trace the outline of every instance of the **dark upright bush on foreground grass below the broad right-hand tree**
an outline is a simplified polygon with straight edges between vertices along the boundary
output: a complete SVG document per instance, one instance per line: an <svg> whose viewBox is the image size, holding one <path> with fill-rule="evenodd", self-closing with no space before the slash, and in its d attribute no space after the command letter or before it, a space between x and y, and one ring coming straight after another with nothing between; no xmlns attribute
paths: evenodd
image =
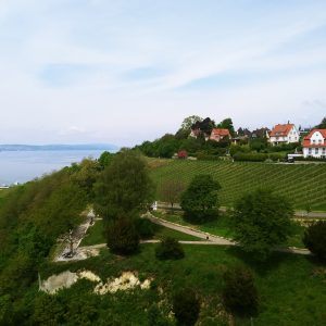
<svg viewBox="0 0 326 326"><path fill-rule="evenodd" d="M258 311L259 297L253 276L242 267L230 268L224 274L222 292L226 310L239 315L253 315Z"/></svg>

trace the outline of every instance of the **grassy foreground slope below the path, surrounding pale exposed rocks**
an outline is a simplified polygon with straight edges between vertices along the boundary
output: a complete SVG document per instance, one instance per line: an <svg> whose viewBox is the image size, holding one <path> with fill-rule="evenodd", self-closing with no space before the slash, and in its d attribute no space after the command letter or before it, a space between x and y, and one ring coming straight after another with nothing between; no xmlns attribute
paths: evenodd
<svg viewBox="0 0 326 326"><path fill-rule="evenodd" d="M224 272L228 267L244 266L254 274L260 294L259 315L252 321L235 317L233 325L325 325L326 267L312 258L274 253L267 263L256 264L239 248L183 244L185 259L159 261L154 255L155 246L141 244L140 252L128 258L113 255L103 249L100 256L75 263L50 263L40 273L43 279L67 269L92 271L103 280L120 276L124 271L137 271L141 279L153 277L150 290L117 292L99 299L116 325L148 325L147 311L151 305L162 310L167 306L167 314L172 293L191 287L202 301L199 325L213 326L229 325L221 298ZM76 285L61 294L75 300L92 292L95 285L88 284Z"/></svg>

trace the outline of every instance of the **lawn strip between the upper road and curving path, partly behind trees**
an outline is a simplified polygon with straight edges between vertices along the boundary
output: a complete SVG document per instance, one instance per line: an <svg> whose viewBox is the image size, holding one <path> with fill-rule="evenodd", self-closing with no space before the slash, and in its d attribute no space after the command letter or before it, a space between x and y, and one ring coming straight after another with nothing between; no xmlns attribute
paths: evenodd
<svg viewBox="0 0 326 326"><path fill-rule="evenodd" d="M204 233L209 233L211 235L229 238L233 239L235 234L231 227L230 216L228 213L220 213L220 216L214 220L210 221L203 224L191 224L183 218L183 213L179 212L178 214L171 214L168 212L154 212L155 216L163 218L168 222L173 222L179 225L189 226L195 229L202 230ZM293 234L289 237L287 243L285 246L287 247L297 247L297 248L304 248L304 244L302 242L302 237L305 230L305 227L300 225L299 222L292 223L293 227Z"/></svg>

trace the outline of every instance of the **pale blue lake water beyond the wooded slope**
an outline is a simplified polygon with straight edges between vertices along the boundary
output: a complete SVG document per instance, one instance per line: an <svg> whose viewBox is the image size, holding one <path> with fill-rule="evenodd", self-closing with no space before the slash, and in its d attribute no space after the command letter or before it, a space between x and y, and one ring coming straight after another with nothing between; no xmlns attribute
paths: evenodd
<svg viewBox="0 0 326 326"><path fill-rule="evenodd" d="M46 173L58 171L84 158L98 159L103 150L2 151L0 185L26 183Z"/></svg>

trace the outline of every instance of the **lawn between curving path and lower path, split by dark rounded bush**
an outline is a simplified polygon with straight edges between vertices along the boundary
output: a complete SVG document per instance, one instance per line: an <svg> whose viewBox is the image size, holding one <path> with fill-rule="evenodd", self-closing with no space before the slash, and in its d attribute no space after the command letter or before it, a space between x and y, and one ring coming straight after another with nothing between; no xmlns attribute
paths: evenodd
<svg viewBox="0 0 326 326"><path fill-rule="evenodd" d="M179 233L177 230L163 227L161 225L152 224L152 227L154 230L153 239L161 240L166 237L172 237L172 238L175 238L180 241L200 241L201 240L197 237L186 235L186 234ZM86 236L84 237L84 239L80 242L80 246L83 247L83 246L93 246L93 244L105 243L106 240L105 240L105 237L103 234L103 229L104 229L103 221L102 220L96 221L96 223L88 228Z"/></svg>

